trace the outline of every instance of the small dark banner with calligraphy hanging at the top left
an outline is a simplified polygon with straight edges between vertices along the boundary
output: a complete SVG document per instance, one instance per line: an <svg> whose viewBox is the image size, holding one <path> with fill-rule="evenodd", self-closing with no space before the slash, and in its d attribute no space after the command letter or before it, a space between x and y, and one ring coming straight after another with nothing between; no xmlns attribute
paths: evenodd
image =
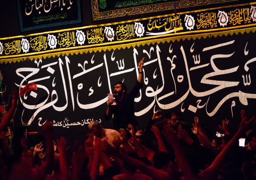
<svg viewBox="0 0 256 180"><path fill-rule="evenodd" d="M80 0L18 0L21 31L81 23Z"/></svg>

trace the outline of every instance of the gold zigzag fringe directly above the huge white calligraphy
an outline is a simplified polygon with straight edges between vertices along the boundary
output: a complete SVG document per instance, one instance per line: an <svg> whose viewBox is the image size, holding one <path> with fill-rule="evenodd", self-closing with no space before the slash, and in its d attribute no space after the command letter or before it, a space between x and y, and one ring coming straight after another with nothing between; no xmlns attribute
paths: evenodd
<svg viewBox="0 0 256 180"><path fill-rule="evenodd" d="M115 46L102 46L102 47L91 47L91 48L86 48L86 49L77 49L77 50L70 50L70 51L62 51L62 52L56 52L56 53L44 53L44 54L41 54L41 55L37 55L37 56L26 56L26 57L17 57L17 58L10 58L10 59L3 59L3 60L0 60L0 63L3 64L3 63L12 63L12 62L20 62L20 61L26 61L26 60L37 60L37 59L42 59L42 58L50 58L50 57L59 57L60 55L61 56L69 56L69 55L78 55L79 53L80 54L83 54L83 53L96 53L97 51L101 52L101 51L111 51L111 50L120 50L121 48L122 49L125 49L125 48L131 48L131 47L139 47L139 46L145 46L145 45L150 45L150 44L159 44L159 43L169 43L170 41L174 42L174 41L180 41L180 40L190 40L190 39L201 39L201 38L204 38L206 39L207 37L209 38L212 38L212 37L222 37L223 35L224 36L227 36L227 35L233 35L233 34L244 34L244 33L254 33L256 31L256 27L252 27L252 28L245 28L245 29L239 29L239 30L230 30L230 31L223 31L223 32L215 32L215 33L209 33L207 31L207 33L203 33L203 34L197 34L197 35L187 35L187 36L175 36L175 37L167 37L167 38L162 38L160 39L160 37L163 37L163 36L159 36L159 37L155 37L155 38L159 38L159 39L153 39L153 40L146 40L146 41L139 41L139 42L134 42L134 43L127 43L127 44L120 44L120 45L115 45ZM203 31L202 31L203 32Z"/></svg>

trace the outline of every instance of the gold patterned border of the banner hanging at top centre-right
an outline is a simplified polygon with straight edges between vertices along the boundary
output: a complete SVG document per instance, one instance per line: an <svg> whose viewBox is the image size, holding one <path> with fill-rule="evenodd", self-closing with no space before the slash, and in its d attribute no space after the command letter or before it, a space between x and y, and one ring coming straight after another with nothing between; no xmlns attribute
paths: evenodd
<svg viewBox="0 0 256 180"><path fill-rule="evenodd" d="M101 13L99 12L98 0L91 0L91 4L92 4L93 21L96 21L96 20L117 18L117 17L123 17L123 16L139 15L144 13L153 13L153 12L160 12L160 11L174 10L174 9L181 9L181 8L191 8L191 7L198 7L203 5L212 5L212 4L227 3L227 2L234 2L234 1L239 1L239 0L215 0L215 1L182 0L182 1L175 1L175 2L169 2L169 3L161 3L161 4L147 5L147 6L141 6L141 7L125 8L120 10L112 10L112 11L106 11Z"/></svg>

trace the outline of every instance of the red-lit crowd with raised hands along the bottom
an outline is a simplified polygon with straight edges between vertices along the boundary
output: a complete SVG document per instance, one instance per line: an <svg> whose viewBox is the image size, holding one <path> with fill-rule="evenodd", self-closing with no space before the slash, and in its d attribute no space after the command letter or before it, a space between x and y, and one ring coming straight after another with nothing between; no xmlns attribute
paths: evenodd
<svg viewBox="0 0 256 180"><path fill-rule="evenodd" d="M12 107L0 123L0 179L256 179L256 134L251 130L256 119L247 117L243 110L236 133L231 134L229 121L223 120L219 128L225 135L213 140L204 132L198 117L193 128L182 128L176 111L170 111L158 123L162 111L156 111L144 131L136 131L128 124L118 132L92 121L87 140L76 145L69 163L67 139L53 141L51 122L42 126L46 150L41 142L28 148L28 139L23 137L22 154L12 153L4 131L17 98L14 91ZM246 148L238 145L243 133L249 142Z"/></svg>

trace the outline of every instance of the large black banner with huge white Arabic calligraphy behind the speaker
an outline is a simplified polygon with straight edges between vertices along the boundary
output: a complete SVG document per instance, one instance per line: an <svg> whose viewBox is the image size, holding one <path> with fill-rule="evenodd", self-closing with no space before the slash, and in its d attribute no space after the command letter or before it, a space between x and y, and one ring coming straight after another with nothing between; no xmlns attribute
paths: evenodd
<svg viewBox="0 0 256 180"><path fill-rule="evenodd" d="M144 87L135 100L138 127L145 127L158 109L174 108L185 122L198 116L212 126L227 118L232 126L240 121L241 109L256 106L256 36L252 31L230 34L149 40L124 49L2 64L2 98L8 104L14 88L37 85L37 90L19 98L17 128L23 125L40 133L40 123L51 121L58 135L67 135L86 132L92 120L111 128L113 121L103 117L107 94L117 81L123 81L129 92L138 77L138 63L145 57Z"/></svg>

